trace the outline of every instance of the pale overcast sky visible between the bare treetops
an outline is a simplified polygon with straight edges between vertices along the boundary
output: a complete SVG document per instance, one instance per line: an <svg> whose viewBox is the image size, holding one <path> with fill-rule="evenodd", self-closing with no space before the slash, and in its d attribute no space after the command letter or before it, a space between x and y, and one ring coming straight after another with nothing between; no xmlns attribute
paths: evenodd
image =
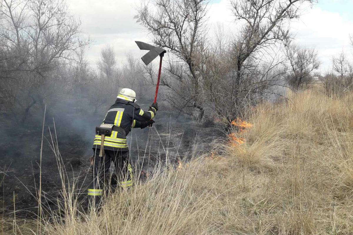
<svg viewBox="0 0 353 235"><path fill-rule="evenodd" d="M95 64L101 48L113 45L119 62L127 53L141 56L134 41L150 42L147 32L133 19L139 0L67 0L71 11L82 20L82 30L93 41L87 56ZM321 71L328 70L333 55L342 50L352 56L349 34L353 34L353 0L319 0L306 7L300 20L291 24L296 41L315 46L322 61ZM211 28L221 23L234 29L229 0L212 0L209 7Z"/></svg>

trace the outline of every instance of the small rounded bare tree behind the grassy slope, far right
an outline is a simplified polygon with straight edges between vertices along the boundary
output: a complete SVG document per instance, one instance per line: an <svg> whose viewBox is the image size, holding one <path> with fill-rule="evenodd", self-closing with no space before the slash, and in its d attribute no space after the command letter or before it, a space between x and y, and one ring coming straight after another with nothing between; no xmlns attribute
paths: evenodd
<svg viewBox="0 0 353 235"><path fill-rule="evenodd" d="M319 68L318 51L315 48L292 44L286 47L285 54L289 62L289 85L298 89L301 84L310 81L313 70Z"/></svg>

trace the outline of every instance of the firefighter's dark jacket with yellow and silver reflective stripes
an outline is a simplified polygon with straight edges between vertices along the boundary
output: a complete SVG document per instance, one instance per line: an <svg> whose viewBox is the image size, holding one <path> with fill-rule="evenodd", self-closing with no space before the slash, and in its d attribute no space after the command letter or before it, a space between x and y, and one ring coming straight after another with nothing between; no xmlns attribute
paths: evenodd
<svg viewBox="0 0 353 235"><path fill-rule="evenodd" d="M123 99L116 99L115 103L110 106L104 124L114 124L125 130L126 135L132 128L145 128L148 124L146 121L151 120L156 115L156 110L152 107L146 112L140 109L137 104ZM93 143L93 149L101 148L101 136L96 135ZM104 150L127 151L126 136L120 132L112 131L110 136L104 138Z"/></svg>

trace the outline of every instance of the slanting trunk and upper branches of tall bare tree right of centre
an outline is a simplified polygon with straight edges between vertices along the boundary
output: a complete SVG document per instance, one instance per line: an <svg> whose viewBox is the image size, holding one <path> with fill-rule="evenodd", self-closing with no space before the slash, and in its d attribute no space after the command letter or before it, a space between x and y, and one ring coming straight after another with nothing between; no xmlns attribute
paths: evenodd
<svg viewBox="0 0 353 235"><path fill-rule="evenodd" d="M234 41L233 56L237 64L234 83L239 87L246 72L244 63L256 52L270 49L277 42L287 42L291 38L288 28L290 20L299 17L299 6L314 0L232 0L232 9L237 20L244 25ZM238 93L234 88L234 94ZM240 99L239 99L240 100Z"/></svg>

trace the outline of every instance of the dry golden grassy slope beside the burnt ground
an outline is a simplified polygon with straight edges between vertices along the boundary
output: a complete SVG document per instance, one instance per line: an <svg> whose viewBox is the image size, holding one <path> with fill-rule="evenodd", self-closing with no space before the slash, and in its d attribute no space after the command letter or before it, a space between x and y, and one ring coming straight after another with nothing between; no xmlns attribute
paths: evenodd
<svg viewBox="0 0 353 235"><path fill-rule="evenodd" d="M215 144L48 234L353 234L353 94L252 111L246 142ZM44 225L43 225L44 226Z"/></svg>

